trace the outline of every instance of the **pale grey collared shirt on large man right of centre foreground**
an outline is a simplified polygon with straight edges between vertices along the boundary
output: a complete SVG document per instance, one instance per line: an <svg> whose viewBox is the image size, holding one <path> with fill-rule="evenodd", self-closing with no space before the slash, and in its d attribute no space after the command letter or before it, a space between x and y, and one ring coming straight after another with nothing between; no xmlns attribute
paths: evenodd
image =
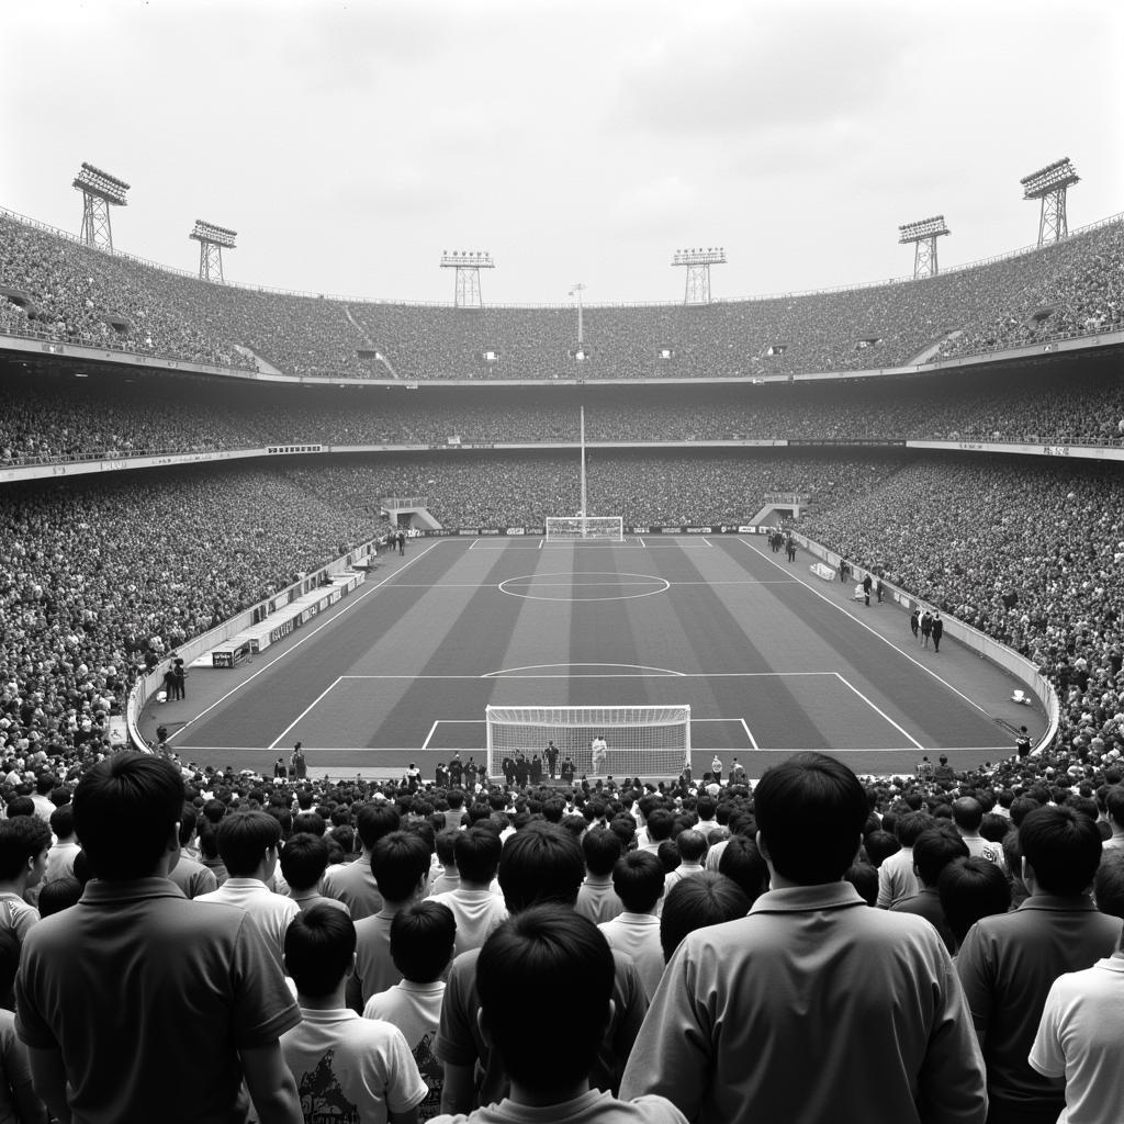
<svg viewBox="0 0 1124 1124"><path fill-rule="evenodd" d="M871 909L846 882L771 890L749 916L686 937L620 1086L644 1093L697 1124L835 1124L841 1105L863 1124L987 1115L979 1045L936 932Z"/></svg>

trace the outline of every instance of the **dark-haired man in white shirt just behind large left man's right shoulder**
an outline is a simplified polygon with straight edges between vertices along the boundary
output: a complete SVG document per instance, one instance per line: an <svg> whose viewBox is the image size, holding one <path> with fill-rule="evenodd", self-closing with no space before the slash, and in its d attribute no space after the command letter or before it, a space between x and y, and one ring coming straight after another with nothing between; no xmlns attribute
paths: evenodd
<svg viewBox="0 0 1124 1124"><path fill-rule="evenodd" d="M250 914L278 966L284 962L284 934L300 906L265 885L278 864L281 825L264 812L235 812L218 825L218 853L230 877L196 901L225 901Z"/></svg>

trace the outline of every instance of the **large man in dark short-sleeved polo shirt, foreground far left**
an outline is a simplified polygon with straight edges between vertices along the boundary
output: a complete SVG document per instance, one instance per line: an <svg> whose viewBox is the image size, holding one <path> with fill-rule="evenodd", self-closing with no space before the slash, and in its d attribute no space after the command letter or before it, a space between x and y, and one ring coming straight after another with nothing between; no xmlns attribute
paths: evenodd
<svg viewBox="0 0 1124 1124"><path fill-rule="evenodd" d="M183 782L158 758L119 753L79 782L96 878L81 909L28 933L17 981L36 1094L61 1120L140 1120L160 1105L164 1121L194 1122L229 1116L245 1080L263 1124L299 1124L278 1039L300 1013L277 961L243 910L201 908L164 877L182 807Z"/></svg>

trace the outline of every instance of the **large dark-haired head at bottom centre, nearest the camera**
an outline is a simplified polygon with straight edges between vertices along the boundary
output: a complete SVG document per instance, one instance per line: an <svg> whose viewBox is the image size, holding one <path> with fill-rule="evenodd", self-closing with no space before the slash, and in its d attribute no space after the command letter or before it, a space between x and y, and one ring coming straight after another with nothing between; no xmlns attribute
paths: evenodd
<svg viewBox="0 0 1124 1124"><path fill-rule="evenodd" d="M589 1075L609 1018L614 978L605 936L564 906L523 909L488 937L477 961L481 1017L513 1081L549 1093ZM528 996L552 995L560 981L579 979L581 1003L555 1004L549 1017L527 1017Z"/></svg>

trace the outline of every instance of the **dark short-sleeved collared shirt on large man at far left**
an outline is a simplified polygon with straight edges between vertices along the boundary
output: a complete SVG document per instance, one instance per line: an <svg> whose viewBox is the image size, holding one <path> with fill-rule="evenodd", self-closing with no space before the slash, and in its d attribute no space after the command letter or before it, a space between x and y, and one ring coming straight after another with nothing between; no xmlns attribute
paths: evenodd
<svg viewBox="0 0 1124 1124"><path fill-rule="evenodd" d="M28 934L16 989L17 1033L61 1052L83 1121L241 1122L238 1051L300 1022L245 910L166 878L89 882Z"/></svg>

